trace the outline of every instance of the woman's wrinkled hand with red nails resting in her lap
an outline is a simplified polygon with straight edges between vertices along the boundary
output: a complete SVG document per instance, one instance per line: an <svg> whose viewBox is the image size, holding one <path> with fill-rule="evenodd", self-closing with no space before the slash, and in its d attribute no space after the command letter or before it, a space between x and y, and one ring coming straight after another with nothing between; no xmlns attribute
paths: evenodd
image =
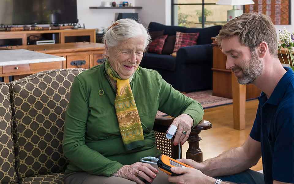
<svg viewBox="0 0 294 184"><path fill-rule="evenodd" d="M147 182L153 182L158 173L157 169L152 167L149 163L136 162L132 165L125 165L120 168L113 176L126 178L138 184L145 184L140 178L145 179Z"/></svg>

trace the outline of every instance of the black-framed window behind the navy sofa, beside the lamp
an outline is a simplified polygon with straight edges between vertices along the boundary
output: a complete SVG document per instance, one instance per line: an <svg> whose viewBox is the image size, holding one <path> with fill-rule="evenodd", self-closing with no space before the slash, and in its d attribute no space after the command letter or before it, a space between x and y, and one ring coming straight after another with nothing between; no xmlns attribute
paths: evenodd
<svg viewBox="0 0 294 184"><path fill-rule="evenodd" d="M216 5L218 0L171 0L171 24L204 28L227 23L231 5Z"/></svg>

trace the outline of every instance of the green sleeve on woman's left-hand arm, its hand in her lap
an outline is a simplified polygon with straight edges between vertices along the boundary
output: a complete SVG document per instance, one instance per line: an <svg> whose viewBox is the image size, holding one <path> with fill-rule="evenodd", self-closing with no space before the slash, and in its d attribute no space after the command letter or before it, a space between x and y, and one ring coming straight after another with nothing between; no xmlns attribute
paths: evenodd
<svg viewBox="0 0 294 184"><path fill-rule="evenodd" d="M110 176L122 164L111 161L85 144L89 93L78 77L75 78L66 110L63 136L64 155L76 167L89 174Z"/></svg>

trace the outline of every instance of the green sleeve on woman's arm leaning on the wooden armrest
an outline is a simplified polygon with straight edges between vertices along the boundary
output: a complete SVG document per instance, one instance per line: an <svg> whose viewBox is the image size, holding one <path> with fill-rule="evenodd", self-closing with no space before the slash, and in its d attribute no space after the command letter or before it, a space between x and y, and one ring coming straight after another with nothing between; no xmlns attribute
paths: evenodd
<svg viewBox="0 0 294 184"><path fill-rule="evenodd" d="M167 113L172 117L188 114L194 121L193 128L198 125L204 114L202 105L196 100L175 90L170 84L162 79L160 74L158 74L158 82L160 86L158 110Z"/></svg>

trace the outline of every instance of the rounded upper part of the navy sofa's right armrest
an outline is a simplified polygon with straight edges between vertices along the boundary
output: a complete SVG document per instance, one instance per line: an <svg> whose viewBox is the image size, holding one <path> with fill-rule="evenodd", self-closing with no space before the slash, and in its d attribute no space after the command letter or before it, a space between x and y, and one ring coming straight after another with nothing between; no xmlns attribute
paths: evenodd
<svg viewBox="0 0 294 184"><path fill-rule="evenodd" d="M210 64L212 63L212 48L211 44L181 47L177 52L177 63Z"/></svg>

